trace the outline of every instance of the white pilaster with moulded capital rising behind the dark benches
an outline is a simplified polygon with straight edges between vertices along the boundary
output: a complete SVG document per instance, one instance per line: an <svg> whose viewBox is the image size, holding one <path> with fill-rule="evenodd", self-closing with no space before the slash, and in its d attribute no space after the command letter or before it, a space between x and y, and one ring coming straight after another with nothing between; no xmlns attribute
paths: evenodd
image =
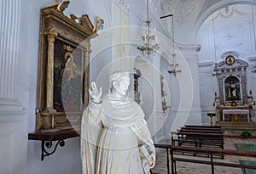
<svg viewBox="0 0 256 174"><path fill-rule="evenodd" d="M201 124L201 106L197 52L199 45L177 45L176 61L182 70L172 76L172 113L174 121L170 131L176 131L184 124Z"/></svg>

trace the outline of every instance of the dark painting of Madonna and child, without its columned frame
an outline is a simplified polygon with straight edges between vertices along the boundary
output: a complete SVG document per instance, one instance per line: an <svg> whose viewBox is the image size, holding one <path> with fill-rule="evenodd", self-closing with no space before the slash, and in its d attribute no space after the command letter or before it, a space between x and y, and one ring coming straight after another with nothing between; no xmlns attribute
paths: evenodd
<svg viewBox="0 0 256 174"><path fill-rule="evenodd" d="M82 50L55 40L54 54L54 109L57 112L83 109L84 63Z"/></svg>

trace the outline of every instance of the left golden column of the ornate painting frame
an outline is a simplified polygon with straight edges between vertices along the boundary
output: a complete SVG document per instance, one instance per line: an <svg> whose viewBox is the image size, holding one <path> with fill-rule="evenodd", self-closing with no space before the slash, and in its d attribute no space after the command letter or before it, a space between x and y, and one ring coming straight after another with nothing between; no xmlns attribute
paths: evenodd
<svg viewBox="0 0 256 174"><path fill-rule="evenodd" d="M55 53L55 31L45 33L48 37L48 53L47 53L47 84L46 84L46 109L49 112L55 112L54 102L54 53Z"/></svg>

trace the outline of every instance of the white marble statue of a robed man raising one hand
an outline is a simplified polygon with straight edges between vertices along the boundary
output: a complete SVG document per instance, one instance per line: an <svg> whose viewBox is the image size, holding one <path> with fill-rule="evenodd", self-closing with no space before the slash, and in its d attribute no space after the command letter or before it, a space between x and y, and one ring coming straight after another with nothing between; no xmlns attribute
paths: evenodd
<svg viewBox="0 0 256 174"><path fill-rule="evenodd" d="M83 174L148 174L155 164L154 143L143 109L127 97L128 72L110 76L110 89L102 97L96 83L81 125Z"/></svg>

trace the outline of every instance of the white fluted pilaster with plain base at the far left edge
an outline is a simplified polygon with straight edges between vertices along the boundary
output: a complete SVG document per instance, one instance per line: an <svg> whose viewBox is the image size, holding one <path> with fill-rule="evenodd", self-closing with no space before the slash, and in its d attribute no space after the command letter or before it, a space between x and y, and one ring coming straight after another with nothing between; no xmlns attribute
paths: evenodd
<svg viewBox="0 0 256 174"><path fill-rule="evenodd" d="M0 1L0 169L1 173L26 173L26 110L16 91L20 0Z"/></svg>

